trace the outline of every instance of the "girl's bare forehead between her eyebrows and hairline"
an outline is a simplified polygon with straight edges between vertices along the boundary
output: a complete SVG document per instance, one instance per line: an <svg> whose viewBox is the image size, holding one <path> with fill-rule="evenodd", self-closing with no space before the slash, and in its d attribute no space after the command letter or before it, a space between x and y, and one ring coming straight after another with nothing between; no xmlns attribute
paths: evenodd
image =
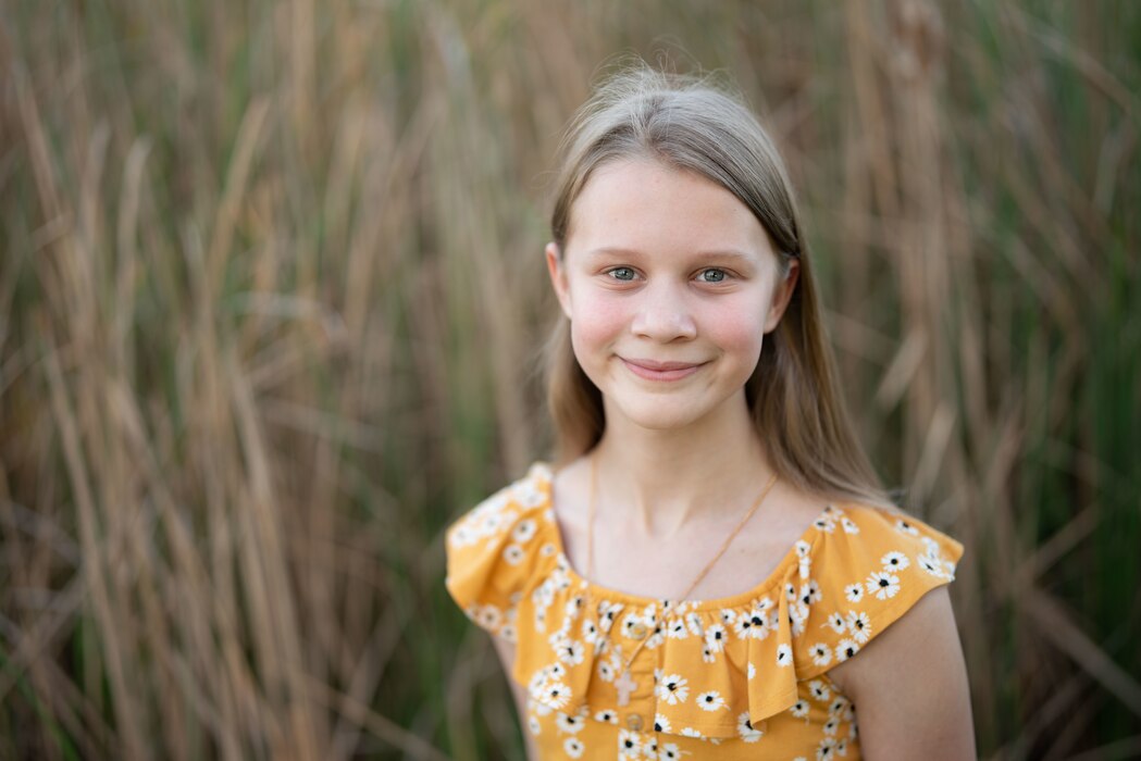
<svg viewBox="0 0 1141 761"><path fill-rule="evenodd" d="M696 172L633 159L598 167L570 210L568 250L739 251L772 254L737 196Z"/></svg>

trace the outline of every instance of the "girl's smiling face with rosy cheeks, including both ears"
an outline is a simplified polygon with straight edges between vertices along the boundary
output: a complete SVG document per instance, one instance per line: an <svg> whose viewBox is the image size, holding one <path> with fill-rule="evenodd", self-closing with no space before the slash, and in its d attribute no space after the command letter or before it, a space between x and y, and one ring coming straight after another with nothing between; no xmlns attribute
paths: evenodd
<svg viewBox="0 0 1141 761"><path fill-rule="evenodd" d="M566 250L547 246L575 357L615 415L683 428L744 411L745 382L798 276L731 193L649 160L597 168Z"/></svg>

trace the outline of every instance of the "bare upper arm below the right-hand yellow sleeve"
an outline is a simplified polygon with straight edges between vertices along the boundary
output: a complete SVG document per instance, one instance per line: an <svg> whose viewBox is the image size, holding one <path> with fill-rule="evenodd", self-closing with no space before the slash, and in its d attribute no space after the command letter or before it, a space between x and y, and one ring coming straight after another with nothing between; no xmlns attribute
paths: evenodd
<svg viewBox="0 0 1141 761"><path fill-rule="evenodd" d="M828 675L856 705L869 759L973 759L966 666L946 586Z"/></svg>

